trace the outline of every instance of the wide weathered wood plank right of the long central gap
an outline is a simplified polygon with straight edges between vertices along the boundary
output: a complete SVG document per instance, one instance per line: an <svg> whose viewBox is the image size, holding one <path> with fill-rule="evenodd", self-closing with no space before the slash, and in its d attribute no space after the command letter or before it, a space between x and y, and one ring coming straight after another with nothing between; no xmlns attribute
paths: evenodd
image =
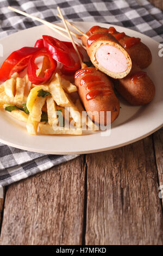
<svg viewBox="0 0 163 256"><path fill-rule="evenodd" d="M86 245L162 245L152 137L86 156Z"/></svg>

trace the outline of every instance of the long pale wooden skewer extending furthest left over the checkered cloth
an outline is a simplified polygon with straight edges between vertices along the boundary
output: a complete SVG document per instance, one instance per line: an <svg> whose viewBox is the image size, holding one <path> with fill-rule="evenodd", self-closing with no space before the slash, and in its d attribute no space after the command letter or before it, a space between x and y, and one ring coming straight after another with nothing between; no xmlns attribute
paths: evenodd
<svg viewBox="0 0 163 256"><path fill-rule="evenodd" d="M62 27L60 27L60 26L58 26L58 25L55 25L55 24L53 24L53 23L50 23L50 22L48 22L48 21L42 20L42 19L40 19L39 17L35 17L35 16L33 16L33 15L30 15L30 14L28 14L28 13L25 13L24 11L17 10L17 9L15 9L15 8L11 7L11 6L8 6L8 9L11 10L11 11L15 11L15 13L18 13L18 14L21 14L21 15L23 15L23 16L29 17L29 18L31 18L31 19L33 19L33 20L39 21L39 22L43 23L44 25L48 26L49 28L53 29L55 32L57 31L55 28L57 28L57 29L59 29L59 30L61 30L61 31L66 32L66 29L65 29L65 28L62 28ZM59 32L58 32L58 33L59 33ZM59 33L59 34L61 34L61 33ZM79 38L79 39L80 39L80 35L78 35L78 34L72 32L72 31L71 31L71 34L74 35L74 36L76 36L76 38ZM65 35L65 37L68 38L68 36L66 36L66 35Z"/></svg>

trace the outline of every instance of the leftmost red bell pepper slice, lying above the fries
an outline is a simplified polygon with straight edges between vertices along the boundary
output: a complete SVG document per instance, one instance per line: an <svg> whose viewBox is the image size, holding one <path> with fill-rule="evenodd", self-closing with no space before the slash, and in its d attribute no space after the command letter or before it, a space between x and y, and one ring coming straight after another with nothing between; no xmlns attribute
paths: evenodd
<svg viewBox="0 0 163 256"><path fill-rule="evenodd" d="M39 50L39 48L35 47L23 47L12 52L0 68L0 81L6 81L15 72L20 72L26 68L29 59Z"/></svg>

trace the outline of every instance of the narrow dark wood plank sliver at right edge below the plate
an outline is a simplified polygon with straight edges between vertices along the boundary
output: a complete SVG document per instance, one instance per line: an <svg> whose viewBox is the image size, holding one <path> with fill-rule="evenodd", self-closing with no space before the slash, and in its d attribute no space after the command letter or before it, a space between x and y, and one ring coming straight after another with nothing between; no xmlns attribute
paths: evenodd
<svg viewBox="0 0 163 256"><path fill-rule="evenodd" d="M160 199L162 197L163 205L163 129L155 132L153 134L154 150L155 150L155 160L158 168L158 177L160 184Z"/></svg>

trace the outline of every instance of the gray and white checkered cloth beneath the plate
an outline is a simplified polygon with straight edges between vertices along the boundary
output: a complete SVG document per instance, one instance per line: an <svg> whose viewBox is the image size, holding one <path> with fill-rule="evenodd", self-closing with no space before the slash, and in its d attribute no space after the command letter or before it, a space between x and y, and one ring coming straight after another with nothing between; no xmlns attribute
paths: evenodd
<svg viewBox="0 0 163 256"><path fill-rule="evenodd" d="M40 25L10 11L8 5L29 14L57 22L57 6L70 21L105 22L139 31L163 41L163 13L146 0L0 0L0 37ZM44 155L0 143L0 186L27 178L68 161L77 155Z"/></svg>

